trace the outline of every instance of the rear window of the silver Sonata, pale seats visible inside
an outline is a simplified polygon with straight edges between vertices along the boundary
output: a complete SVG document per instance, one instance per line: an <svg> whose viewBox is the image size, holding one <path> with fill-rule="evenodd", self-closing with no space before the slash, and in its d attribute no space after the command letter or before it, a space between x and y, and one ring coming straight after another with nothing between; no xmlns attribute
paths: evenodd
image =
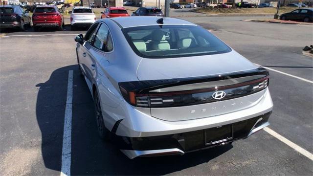
<svg viewBox="0 0 313 176"><path fill-rule="evenodd" d="M173 58L230 52L231 49L195 25L153 25L122 29L134 52L145 58Z"/></svg>

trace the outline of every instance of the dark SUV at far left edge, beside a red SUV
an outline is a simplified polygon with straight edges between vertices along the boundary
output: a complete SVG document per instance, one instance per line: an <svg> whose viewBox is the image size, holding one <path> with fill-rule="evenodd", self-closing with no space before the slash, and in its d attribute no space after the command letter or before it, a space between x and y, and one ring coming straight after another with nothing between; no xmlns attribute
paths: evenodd
<svg viewBox="0 0 313 176"><path fill-rule="evenodd" d="M19 5L0 5L0 28L24 30L31 25L31 17Z"/></svg>

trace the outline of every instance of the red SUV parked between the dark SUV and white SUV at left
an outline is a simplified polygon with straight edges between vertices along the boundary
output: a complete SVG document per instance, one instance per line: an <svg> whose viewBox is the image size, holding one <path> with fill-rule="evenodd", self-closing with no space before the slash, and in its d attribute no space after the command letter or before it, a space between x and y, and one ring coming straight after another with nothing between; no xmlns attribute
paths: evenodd
<svg viewBox="0 0 313 176"><path fill-rule="evenodd" d="M63 30L64 17L55 5L37 6L32 16L34 31L39 27L57 27Z"/></svg>

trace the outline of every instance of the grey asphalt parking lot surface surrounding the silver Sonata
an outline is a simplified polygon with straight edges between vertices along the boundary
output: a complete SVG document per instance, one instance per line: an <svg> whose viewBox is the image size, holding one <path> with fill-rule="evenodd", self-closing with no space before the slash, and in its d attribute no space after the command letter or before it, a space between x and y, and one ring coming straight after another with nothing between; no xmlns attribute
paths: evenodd
<svg viewBox="0 0 313 176"><path fill-rule="evenodd" d="M267 131L182 156L130 160L98 137L93 100L79 75L75 53L74 36L86 30L69 31L67 26L63 31L4 31L1 175L60 175L63 167L71 175L313 175L313 58L302 54L302 48L313 43L313 26L241 21L262 18L248 16L182 18L268 68L274 109ZM64 166L69 90L71 149L63 157L70 157L70 165Z"/></svg>

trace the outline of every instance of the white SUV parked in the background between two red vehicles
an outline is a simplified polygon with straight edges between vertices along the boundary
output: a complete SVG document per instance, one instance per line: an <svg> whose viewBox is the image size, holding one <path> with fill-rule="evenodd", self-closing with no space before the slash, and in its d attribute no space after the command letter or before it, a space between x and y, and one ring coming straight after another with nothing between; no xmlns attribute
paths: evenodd
<svg viewBox="0 0 313 176"><path fill-rule="evenodd" d="M74 7L70 14L71 30L77 27L89 27L96 21L96 15L89 7Z"/></svg>

